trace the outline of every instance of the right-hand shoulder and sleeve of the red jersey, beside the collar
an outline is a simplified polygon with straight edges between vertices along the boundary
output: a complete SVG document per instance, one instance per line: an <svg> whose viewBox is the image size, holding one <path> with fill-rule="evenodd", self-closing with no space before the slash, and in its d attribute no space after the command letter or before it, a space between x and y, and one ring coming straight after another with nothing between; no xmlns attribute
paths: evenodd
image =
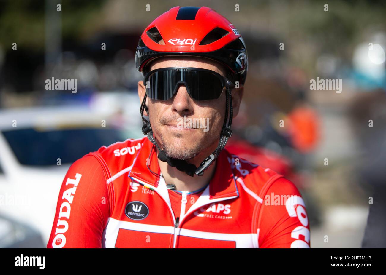
<svg viewBox="0 0 386 275"><path fill-rule="evenodd" d="M303 198L283 175L228 153L244 197L253 197L253 230L261 248L309 248L310 228Z"/></svg>

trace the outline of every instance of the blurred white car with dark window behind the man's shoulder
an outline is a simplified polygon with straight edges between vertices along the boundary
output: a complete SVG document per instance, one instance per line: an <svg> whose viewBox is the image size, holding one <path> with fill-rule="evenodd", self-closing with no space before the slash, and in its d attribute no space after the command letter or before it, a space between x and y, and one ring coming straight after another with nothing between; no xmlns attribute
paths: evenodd
<svg viewBox="0 0 386 275"><path fill-rule="evenodd" d="M102 145L142 136L139 104L124 102L127 109L113 112L90 106L0 111L0 216L41 233L46 244L71 163Z"/></svg>

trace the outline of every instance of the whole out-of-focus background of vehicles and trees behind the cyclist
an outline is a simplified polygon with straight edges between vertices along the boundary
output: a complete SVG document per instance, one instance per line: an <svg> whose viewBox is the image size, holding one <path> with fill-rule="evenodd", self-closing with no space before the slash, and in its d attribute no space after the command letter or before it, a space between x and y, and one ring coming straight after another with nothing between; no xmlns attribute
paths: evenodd
<svg viewBox="0 0 386 275"><path fill-rule="evenodd" d="M0 1L0 247L45 247L71 163L143 136L139 37L170 8L203 5L249 55L227 148L296 184L311 247L361 247L369 197L386 183L385 2L236 2ZM52 77L78 79L78 92L47 91ZM317 77L342 91L310 90Z"/></svg>

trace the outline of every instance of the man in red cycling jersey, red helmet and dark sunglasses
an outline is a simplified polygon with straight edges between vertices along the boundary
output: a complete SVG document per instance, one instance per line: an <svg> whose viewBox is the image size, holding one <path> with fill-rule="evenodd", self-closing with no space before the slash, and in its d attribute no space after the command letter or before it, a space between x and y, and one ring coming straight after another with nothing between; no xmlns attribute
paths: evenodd
<svg viewBox="0 0 386 275"><path fill-rule="evenodd" d="M293 183L223 149L248 65L237 29L210 8L174 7L135 59L147 137L69 168L47 247L309 248Z"/></svg>

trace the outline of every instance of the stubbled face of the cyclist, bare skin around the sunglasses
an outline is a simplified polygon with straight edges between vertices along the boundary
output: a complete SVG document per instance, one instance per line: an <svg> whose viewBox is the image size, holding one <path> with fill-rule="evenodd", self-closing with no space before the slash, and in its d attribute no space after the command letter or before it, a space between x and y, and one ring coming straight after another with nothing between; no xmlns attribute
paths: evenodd
<svg viewBox="0 0 386 275"><path fill-rule="evenodd" d="M195 67L225 75L216 62L197 57L165 57L155 60L149 69L165 67ZM142 101L145 93L142 81L138 92ZM147 98L147 106L153 133L170 157L191 159L207 148L213 147L214 151L217 147L225 116L224 91L218 99L195 101L181 84L168 101Z"/></svg>

